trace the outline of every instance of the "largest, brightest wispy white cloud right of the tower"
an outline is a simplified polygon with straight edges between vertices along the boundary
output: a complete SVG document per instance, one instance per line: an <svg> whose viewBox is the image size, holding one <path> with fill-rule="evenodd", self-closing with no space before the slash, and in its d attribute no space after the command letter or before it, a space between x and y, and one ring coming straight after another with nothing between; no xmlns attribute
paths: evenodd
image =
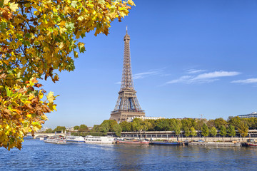
<svg viewBox="0 0 257 171"><path fill-rule="evenodd" d="M171 83L211 83L213 81L218 81L220 77L237 76L240 74L236 71L214 71L211 73L201 73L197 76L181 76L180 78L172 81L166 82L166 84Z"/></svg>

